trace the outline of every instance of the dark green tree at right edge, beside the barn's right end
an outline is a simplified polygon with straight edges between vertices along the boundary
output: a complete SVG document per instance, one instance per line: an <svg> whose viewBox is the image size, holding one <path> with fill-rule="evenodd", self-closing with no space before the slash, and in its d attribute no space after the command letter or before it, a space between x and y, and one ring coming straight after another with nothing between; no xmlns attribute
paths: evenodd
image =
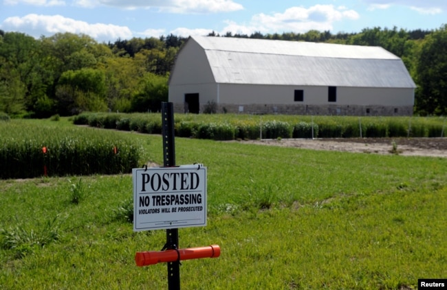
<svg viewBox="0 0 447 290"><path fill-rule="evenodd" d="M426 36L416 71L416 112L447 114L447 25Z"/></svg>

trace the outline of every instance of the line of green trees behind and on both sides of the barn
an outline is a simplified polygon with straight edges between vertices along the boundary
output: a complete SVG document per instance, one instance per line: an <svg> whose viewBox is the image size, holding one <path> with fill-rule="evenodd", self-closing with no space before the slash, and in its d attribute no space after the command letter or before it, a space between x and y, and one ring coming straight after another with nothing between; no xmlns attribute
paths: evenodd
<svg viewBox="0 0 447 290"><path fill-rule="evenodd" d="M228 32L221 37L383 47L402 58L417 84L415 114L447 114L447 25L412 31L373 27L350 34ZM158 111L168 99L169 73L186 40L170 34L98 43L84 34L35 39L0 30L0 112L43 118L83 111Z"/></svg>

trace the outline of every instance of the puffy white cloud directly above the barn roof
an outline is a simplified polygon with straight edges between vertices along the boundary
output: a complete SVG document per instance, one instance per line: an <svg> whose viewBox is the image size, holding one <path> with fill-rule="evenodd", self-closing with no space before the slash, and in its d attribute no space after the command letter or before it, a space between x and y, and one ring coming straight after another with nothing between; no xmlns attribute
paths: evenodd
<svg viewBox="0 0 447 290"><path fill-rule="evenodd" d="M221 34L232 32L232 34L252 34L261 32L308 32L311 29L320 31L333 29L333 23L345 19L359 19L355 10L347 10L341 6L314 5L310 8L292 7L282 13L256 14L248 25L226 21L227 26Z"/></svg>

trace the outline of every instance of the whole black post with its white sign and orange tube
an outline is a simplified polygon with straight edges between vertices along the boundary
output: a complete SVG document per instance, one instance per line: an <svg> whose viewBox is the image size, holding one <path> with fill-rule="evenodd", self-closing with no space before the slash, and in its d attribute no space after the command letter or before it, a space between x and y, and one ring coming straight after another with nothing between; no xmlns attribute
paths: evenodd
<svg viewBox="0 0 447 290"><path fill-rule="evenodd" d="M206 167L175 166L173 103L162 103L164 167L133 169L133 230L166 229L161 252L138 252L142 267L168 265L168 289L180 289L180 261L217 258L219 245L179 249L178 228L206 226Z"/></svg>

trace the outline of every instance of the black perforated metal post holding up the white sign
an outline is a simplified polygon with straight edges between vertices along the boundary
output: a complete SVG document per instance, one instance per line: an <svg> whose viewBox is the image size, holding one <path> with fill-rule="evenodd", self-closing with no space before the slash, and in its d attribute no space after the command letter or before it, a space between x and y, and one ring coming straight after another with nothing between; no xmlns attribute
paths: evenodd
<svg viewBox="0 0 447 290"><path fill-rule="evenodd" d="M164 166L173 167L175 166L173 103L162 102L162 134ZM166 249L179 248L179 232L177 228L170 228L166 230L165 247ZM168 263L168 289L180 289L180 261Z"/></svg>

